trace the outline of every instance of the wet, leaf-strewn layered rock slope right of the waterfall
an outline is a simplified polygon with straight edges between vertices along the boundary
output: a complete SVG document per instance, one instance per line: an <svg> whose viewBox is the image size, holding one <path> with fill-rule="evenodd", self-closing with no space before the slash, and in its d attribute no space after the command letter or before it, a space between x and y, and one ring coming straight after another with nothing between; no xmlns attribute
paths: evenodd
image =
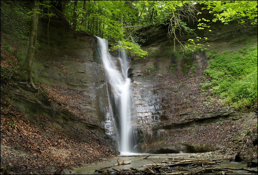
<svg viewBox="0 0 258 175"><path fill-rule="evenodd" d="M209 40L209 49L236 51L251 38L256 38L253 44L257 44L256 28L225 32L231 28L211 27L224 34ZM234 155L240 152L247 162L257 159L257 103L252 108L235 110L223 106L208 91L202 92L200 83L205 81L203 71L210 60L205 52L192 52L188 60L180 50L175 54L173 42L166 34L166 28L146 28L139 32L147 39L143 48L149 55L132 61L141 142L138 148L153 153L218 150ZM217 33L205 34L198 36L210 38Z"/></svg>

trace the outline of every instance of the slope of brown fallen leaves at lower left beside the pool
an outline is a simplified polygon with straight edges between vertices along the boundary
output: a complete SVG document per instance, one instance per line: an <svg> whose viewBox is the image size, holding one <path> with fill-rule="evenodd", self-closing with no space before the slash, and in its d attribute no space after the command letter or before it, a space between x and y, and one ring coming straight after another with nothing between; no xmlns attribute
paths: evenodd
<svg viewBox="0 0 258 175"><path fill-rule="evenodd" d="M1 166L11 173L60 174L112 155L114 149L90 131L43 115L29 121L1 98Z"/></svg>

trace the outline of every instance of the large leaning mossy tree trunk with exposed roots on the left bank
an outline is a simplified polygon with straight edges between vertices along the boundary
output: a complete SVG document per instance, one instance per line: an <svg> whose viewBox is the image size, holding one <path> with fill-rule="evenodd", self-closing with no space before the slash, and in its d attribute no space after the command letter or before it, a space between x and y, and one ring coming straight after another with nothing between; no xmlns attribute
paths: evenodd
<svg viewBox="0 0 258 175"><path fill-rule="evenodd" d="M34 89L37 89L33 83L32 76L31 76L31 68L36 48L36 38L37 38L37 30L38 30L38 9L39 5L37 5L37 1L33 1L34 7L32 8L32 16L31 16L31 28L30 28L30 39L29 39L29 48L27 52L26 59L24 61L24 64L22 65L18 80L24 81L26 84L28 83L28 80L30 81L32 87Z"/></svg>

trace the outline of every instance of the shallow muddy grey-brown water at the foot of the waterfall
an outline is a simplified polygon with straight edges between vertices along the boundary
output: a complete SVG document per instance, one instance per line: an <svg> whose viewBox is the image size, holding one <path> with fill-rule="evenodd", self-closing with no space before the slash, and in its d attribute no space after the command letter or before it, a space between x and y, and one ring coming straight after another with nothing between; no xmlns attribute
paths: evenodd
<svg viewBox="0 0 258 175"><path fill-rule="evenodd" d="M230 156L223 156L223 155L213 155L213 152L207 152L207 153L179 153L179 154L170 154L170 155L160 155L156 154L155 156L149 156L147 160L142 159L144 156L136 156L136 157L122 157L120 156L120 162L124 160L125 162L132 160L131 164L127 165L120 165L120 166L114 166L117 162L117 158L112 158L110 160L104 160L98 163L93 163L93 164L86 164L81 168L74 168L72 171L72 174L101 174L98 172L95 172L95 170L100 170L101 168L103 170L110 170L110 172L115 172L112 170L112 168L121 170L121 169L130 169L130 167L137 168L139 170L143 170L145 167L143 165L146 164L153 164L153 162L156 163L161 163L162 161L167 161L170 162L171 157L174 158L190 158L190 156L194 156L196 159L205 159L205 160L212 160L212 159L219 159L219 158L228 158ZM247 164L242 164L241 162L229 162L228 160L224 160L221 165L218 165L219 167L231 167L231 168L247 168ZM109 168L107 168L109 167ZM187 168L185 167L180 167L180 168ZM257 167L252 168L253 170L257 170ZM199 169L189 169L193 172L198 171ZM184 172L184 173L190 173L191 171L184 171L184 170L172 170L172 172ZM237 171L237 170L232 170L234 172L228 172L227 174L250 174L247 171Z"/></svg>

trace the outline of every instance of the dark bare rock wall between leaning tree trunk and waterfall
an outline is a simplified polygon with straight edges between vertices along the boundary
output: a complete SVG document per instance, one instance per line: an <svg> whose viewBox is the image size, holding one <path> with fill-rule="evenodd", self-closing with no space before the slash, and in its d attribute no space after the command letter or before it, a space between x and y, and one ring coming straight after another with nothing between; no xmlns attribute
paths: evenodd
<svg viewBox="0 0 258 175"><path fill-rule="evenodd" d="M108 104L106 88L103 86L105 75L96 56L97 38L74 32L60 19L51 18L47 26L48 20L40 18L37 35L39 47L33 69L39 83L45 84L46 89L42 92L52 88L56 94L52 94L49 101L44 97L43 100L26 98L15 92L7 93L6 98L24 111L27 118L33 118L35 113L53 116L67 125L96 130L99 136L105 137L101 121L105 120ZM58 102L57 95L69 94L69 91L73 91L65 99L69 101L66 104ZM52 92L47 93L51 95ZM84 98L83 102L79 102L79 94ZM73 99L75 96L78 96L77 99Z"/></svg>

